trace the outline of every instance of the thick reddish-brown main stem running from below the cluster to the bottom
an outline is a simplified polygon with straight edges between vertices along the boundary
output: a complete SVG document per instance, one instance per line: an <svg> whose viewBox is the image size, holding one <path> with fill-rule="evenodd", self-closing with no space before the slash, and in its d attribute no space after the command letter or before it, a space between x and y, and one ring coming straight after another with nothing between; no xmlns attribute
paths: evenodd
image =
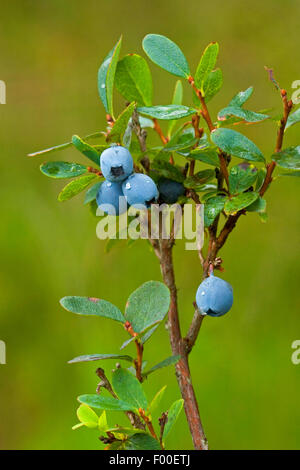
<svg viewBox="0 0 300 470"><path fill-rule="evenodd" d="M176 376L182 398L184 399L184 409L189 424L193 444L196 450L207 450L207 440L200 419L198 403L192 385L191 374L188 363L188 353L186 345L181 336L178 306L177 289L175 285L175 275L172 259L172 247L169 240L160 240L161 258L160 266L164 283L170 290L171 303L168 314L169 335L172 353L180 355L181 359L176 364Z"/></svg>

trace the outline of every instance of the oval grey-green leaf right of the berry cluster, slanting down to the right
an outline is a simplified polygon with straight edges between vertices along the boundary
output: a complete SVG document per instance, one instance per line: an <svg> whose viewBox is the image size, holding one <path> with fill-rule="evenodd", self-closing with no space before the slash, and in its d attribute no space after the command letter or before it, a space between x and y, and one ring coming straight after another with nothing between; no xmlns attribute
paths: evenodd
<svg viewBox="0 0 300 470"><path fill-rule="evenodd" d="M232 129L219 128L211 133L211 139L221 150L244 160L263 162L263 154L247 137Z"/></svg>

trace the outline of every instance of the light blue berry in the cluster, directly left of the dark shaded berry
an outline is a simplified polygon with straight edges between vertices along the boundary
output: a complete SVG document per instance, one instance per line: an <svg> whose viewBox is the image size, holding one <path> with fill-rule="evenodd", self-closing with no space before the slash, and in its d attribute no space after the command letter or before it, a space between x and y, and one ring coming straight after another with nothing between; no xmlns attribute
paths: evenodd
<svg viewBox="0 0 300 470"><path fill-rule="evenodd" d="M158 190L150 176L134 173L122 184L124 196L130 206L144 205L147 208L158 198Z"/></svg>

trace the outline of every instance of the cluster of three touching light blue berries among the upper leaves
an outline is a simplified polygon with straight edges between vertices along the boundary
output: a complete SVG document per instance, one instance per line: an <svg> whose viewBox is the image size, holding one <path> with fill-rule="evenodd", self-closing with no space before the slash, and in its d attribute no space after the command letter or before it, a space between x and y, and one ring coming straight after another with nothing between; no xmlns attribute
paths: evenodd
<svg viewBox="0 0 300 470"><path fill-rule="evenodd" d="M97 194L97 204L109 215L120 215L128 205L149 208L158 199L158 189L152 178L143 173L133 173L130 152L114 145L102 152L100 167L105 181Z"/></svg>

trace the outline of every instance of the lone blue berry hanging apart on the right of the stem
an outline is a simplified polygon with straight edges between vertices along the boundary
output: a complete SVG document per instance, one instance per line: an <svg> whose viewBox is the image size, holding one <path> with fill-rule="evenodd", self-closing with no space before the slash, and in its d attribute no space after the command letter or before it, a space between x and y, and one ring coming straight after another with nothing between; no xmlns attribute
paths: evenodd
<svg viewBox="0 0 300 470"><path fill-rule="evenodd" d="M198 287L196 303L200 312L207 315L212 317L225 315L233 304L232 287L211 273Z"/></svg>

